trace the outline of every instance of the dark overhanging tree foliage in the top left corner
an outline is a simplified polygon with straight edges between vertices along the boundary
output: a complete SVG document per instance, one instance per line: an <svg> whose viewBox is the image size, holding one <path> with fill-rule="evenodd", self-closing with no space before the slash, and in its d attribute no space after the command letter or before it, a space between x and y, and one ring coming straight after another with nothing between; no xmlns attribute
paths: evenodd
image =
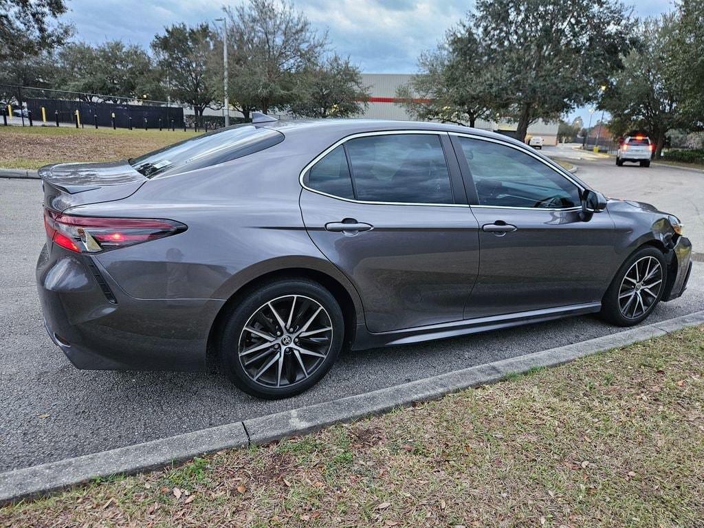
<svg viewBox="0 0 704 528"><path fill-rule="evenodd" d="M65 42L70 25L56 23L63 0L0 0L0 61L23 61Z"/></svg>

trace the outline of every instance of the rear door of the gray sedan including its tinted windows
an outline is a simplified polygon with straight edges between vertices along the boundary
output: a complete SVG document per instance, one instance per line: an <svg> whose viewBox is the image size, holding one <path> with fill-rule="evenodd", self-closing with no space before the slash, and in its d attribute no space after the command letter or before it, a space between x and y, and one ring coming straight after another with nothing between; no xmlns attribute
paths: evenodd
<svg viewBox="0 0 704 528"><path fill-rule="evenodd" d="M356 134L301 183L308 234L357 288L370 332L463 319L479 235L446 133Z"/></svg>

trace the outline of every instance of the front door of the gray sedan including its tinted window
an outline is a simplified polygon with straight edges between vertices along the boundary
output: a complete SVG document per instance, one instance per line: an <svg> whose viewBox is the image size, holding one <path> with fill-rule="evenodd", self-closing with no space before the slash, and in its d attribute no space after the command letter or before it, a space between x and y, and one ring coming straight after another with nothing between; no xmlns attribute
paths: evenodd
<svg viewBox="0 0 704 528"><path fill-rule="evenodd" d="M601 301L615 227L582 220L582 186L520 146L453 135L479 224L479 276L465 318Z"/></svg>

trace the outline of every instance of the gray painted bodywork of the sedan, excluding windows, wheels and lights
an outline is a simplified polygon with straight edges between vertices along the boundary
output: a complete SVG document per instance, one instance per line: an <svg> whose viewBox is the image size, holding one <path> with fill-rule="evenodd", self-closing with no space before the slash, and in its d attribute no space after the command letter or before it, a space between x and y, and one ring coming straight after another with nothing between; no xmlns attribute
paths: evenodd
<svg viewBox="0 0 704 528"><path fill-rule="evenodd" d="M483 218L483 213L470 208L475 203L471 193L467 192L464 207L434 210L432 206L403 206L408 209L400 214L396 207L327 199L301 189L298 177L329 146L363 132L471 131L540 156L532 149L497 134L435 123L325 120L266 126L275 127L286 139L213 167L151 180L132 174L124 183L113 180L109 187L95 189L104 167L74 167L72 175L63 166L61 170L68 173L62 176L62 184L45 185L46 205L66 213L165 218L188 226L187 231L172 237L94 256L79 256L47 242L48 251L37 263L44 317L49 333L75 365L203 369L208 346L213 345L211 330L218 314L228 306L227 300L236 299L249 284L272 273L314 272L339 285L352 305L351 320L356 322L353 348L596 311L600 292L603 295L613 272L632 251L643 243L664 245L668 237L672 240L667 215L621 202L610 201L607 210L594 213L589 222L577 222L573 215L578 212L548 213L550 218L541 216L539 221L534 220L535 215L530 220L528 213L521 213L515 222L522 222L526 232L539 229L516 244L520 249L504 248L503 254L496 240L485 237L484 276L479 268L479 225L486 218L496 218ZM558 165L541 159L567 177ZM110 165L110 170L129 172L124 164ZM91 172L89 177L87 172ZM451 172L456 183L459 170L451 166ZM47 180L51 178L47 176ZM81 191L80 186L87 190ZM355 237L321 229L326 222L342 218L369 221L375 229ZM603 234L608 240L609 225L615 225L614 244L601 237ZM550 233L560 233L554 240L546 231L548 226ZM582 238L574 236L577 232ZM679 238L679 260L674 258L677 251L669 253L680 282L689 265L684 241ZM363 249L356 249L356 242L363 243ZM549 251L549 263L544 257L534 260L542 254L530 252L534 244ZM82 259L91 259L96 265L117 303L106 299ZM555 279L552 271L568 273L584 291L569 293L569 281ZM538 272L539 282L531 272ZM512 288L502 284L507 278L513 282L513 295ZM479 288L472 292L475 279ZM383 292L378 291L379 285L385 288ZM516 304L517 286L528 302ZM492 300L496 295L501 297L501 306ZM482 317L477 318L479 315Z"/></svg>

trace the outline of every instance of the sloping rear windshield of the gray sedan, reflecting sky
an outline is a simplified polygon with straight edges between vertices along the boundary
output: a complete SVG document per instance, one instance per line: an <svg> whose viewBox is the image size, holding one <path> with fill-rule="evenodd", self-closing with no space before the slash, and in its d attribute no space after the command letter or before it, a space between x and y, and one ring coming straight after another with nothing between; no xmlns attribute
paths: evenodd
<svg viewBox="0 0 704 528"><path fill-rule="evenodd" d="M175 175L241 158L282 141L284 134L276 130L234 125L132 158L130 165L148 178Z"/></svg>

